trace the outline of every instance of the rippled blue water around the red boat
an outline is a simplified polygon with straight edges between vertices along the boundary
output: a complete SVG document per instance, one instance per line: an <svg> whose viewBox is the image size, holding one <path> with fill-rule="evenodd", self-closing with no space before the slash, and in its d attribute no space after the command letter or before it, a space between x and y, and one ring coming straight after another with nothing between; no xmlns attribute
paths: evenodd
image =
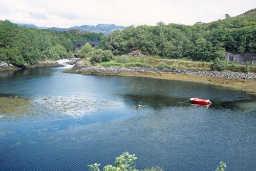
<svg viewBox="0 0 256 171"><path fill-rule="evenodd" d="M140 169L215 170L224 161L226 170L256 170L254 96L61 71L0 73L0 170L86 170L122 152L135 154ZM195 96L213 104L180 103Z"/></svg>

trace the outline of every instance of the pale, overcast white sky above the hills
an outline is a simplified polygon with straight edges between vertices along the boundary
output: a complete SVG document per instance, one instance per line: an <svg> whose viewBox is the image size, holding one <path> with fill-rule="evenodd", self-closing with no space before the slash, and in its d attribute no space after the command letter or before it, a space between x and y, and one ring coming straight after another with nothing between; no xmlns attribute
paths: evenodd
<svg viewBox="0 0 256 171"><path fill-rule="evenodd" d="M115 24L155 26L157 22L193 25L237 16L256 8L255 0L0 0L0 20L36 26Z"/></svg>

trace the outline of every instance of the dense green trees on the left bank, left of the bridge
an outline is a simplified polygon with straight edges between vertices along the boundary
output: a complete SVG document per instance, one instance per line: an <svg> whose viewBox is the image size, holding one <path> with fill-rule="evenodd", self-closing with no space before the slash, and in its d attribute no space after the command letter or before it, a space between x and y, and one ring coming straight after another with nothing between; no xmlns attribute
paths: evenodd
<svg viewBox="0 0 256 171"><path fill-rule="evenodd" d="M0 62L19 66L45 59L73 56L74 40L100 40L101 33L58 32L18 27L8 20L0 21Z"/></svg>

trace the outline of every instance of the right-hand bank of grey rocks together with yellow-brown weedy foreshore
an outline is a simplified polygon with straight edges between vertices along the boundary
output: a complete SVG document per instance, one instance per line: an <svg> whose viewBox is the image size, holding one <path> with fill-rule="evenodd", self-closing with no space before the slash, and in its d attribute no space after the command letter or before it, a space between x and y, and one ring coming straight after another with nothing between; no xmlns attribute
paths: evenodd
<svg viewBox="0 0 256 171"><path fill-rule="evenodd" d="M145 67L83 67L64 71L66 73L92 75L118 75L182 80L222 86L256 95L256 75L230 71L174 70Z"/></svg>

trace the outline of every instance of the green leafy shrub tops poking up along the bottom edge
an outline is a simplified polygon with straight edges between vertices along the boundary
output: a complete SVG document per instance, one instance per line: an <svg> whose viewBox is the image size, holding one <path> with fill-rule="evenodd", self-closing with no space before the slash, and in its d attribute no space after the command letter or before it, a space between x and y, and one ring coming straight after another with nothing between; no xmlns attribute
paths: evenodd
<svg viewBox="0 0 256 171"><path fill-rule="evenodd" d="M138 169L135 166L135 160L137 157L135 155L130 155L129 153L125 152L119 157L116 157L115 166L113 165L105 165L103 167L103 171L137 171ZM100 171L99 169L100 164L95 163L89 165L89 169L91 171ZM226 164L220 162L220 165L216 168L216 171L224 171L226 168ZM152 168L145 168L144 171L163 171L162 167L152 167Z"/></svg>

